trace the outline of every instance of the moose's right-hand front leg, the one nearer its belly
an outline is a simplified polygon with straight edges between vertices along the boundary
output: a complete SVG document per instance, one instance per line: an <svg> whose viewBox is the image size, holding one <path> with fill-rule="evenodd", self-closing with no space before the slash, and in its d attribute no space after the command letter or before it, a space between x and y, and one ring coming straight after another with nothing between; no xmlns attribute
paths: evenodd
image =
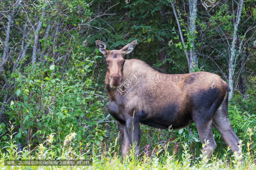
<svg viewBox="0 0 256 170"><path fill-rule="evenodd" d="M134 152L136 156L139 156L140 142L141 142L141 130L140 130L140 120L139 118L128 118L126 120L126 128L129 135L129 145L131 148L134 147Z"/></svg>

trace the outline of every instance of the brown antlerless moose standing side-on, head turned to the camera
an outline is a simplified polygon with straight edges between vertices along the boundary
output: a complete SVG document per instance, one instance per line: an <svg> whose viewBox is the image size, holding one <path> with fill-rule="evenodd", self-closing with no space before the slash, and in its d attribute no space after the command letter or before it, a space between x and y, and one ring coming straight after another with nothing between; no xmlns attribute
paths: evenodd
<svg viewBox="0 0 256 170"><path fill-rule="evenodd" d="M228 119L228 84L209 72L164 74L139 59L124 59L136 44L134 40L120 50L109 50L104 42L96 41L106 58L108 111L117 120L122 156L133 145L134 154L139 155L140 123L181 129L194 122L201 143L209 141L205 145L208 159L217 146L213 126L232 152L238 152L240 140Z"/></svg>

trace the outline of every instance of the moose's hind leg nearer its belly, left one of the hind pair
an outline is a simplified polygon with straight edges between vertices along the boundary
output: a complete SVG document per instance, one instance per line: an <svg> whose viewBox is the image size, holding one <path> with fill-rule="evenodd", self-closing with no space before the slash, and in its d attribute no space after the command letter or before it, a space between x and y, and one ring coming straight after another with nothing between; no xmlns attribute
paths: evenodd
<svg viewBox="0 0 256 170"><path fill-rule="evenodd" d="M204 150L207 151L207 159L209 159L212 156L213 151L217 147L212 134L212 119L205 120L205 117L203 117L202 114L198 113L193 115L193 121L195 122L195 125L197 127L197 132L199 134L201 143L205 144L205 142L209 140L209 143L205 145L204 148Z"/></svg>

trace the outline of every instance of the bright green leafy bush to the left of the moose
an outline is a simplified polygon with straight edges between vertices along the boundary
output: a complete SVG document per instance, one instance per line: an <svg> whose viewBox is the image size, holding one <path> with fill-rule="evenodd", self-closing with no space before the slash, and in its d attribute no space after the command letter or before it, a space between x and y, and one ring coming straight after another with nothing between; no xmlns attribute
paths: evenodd
<svg viewBox="0 0 256 170"><path fill-rule="evenodd" d="M9 120L18 127L13 140L40 143L56 133L55 146L59 146L72 129L82 143L102 141L106 130L100 129L102 125L97 121L106 118L103 109L107 100L97 97L101 94L96 91L98 79L90 76L98 57L83 59L83 54L73 54L70 69L62 78L62 69L51 65L52 60L45 67L30 65L23 73L13 73L17 98L6 106L10 108L6 113ZM6 135L2 140L6 140Z"/></svg>

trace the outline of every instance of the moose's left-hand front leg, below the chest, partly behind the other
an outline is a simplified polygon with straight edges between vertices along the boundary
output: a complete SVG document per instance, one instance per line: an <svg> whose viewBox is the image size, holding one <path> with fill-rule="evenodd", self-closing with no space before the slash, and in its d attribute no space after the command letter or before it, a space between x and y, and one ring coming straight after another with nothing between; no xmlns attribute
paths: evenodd
<svg viewBox="0 0 256 170"><path fill-rule="evenodd" d="M128 152L128 147L129 147L129 135L126 129L126 124L125 122L119 122L117 121L118 125L118 130L120 133L120 138L121 138L121 151L122 151L122 157L124 158L125 155Z"/></svg>

